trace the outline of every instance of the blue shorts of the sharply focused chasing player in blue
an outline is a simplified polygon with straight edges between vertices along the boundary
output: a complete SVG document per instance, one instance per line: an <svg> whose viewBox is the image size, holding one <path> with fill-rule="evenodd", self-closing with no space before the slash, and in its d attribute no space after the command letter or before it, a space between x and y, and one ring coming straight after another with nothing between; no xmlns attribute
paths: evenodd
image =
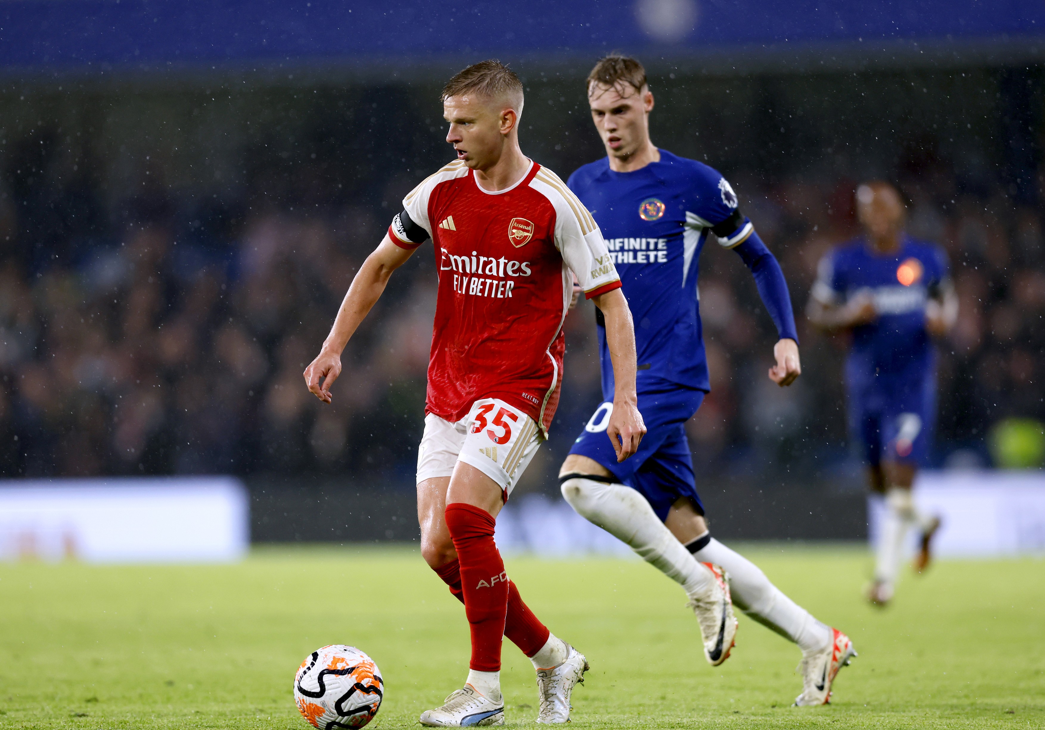
<svg viewBox="0 0 1045 730"><path fill-rule="evenodd" d="M646 435L638 444L638 451L620 464L606 435L613 404L603 403L596 408L570 453L594 458L604 466L621 484L646 497L661 520L667 519L668 511L679 497L688 497L702 515L704 508L693 478L686 422L697 413L704 395L703 391L666 380L644 386L638 392L638 413L646 423Z"/></svg>

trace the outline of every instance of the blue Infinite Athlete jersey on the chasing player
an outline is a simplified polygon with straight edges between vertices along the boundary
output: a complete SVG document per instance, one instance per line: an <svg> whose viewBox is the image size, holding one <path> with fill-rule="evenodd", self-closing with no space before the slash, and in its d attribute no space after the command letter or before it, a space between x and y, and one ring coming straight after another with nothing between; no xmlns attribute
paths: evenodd
<svg viewBox="0 0 1045 730"><path fill-rule="evenodd" d="M663 378L707 391L697 260L709 236L729 248L750 228L741 219L722 237L711 231L737 210L729 183L703 163L661 149L659 162L632 172L614 172L603 158L574 172L567 185L595 216L621 277L635 323L640 387ZM603 396L611 400L603 327L599 353Z"/></svg>

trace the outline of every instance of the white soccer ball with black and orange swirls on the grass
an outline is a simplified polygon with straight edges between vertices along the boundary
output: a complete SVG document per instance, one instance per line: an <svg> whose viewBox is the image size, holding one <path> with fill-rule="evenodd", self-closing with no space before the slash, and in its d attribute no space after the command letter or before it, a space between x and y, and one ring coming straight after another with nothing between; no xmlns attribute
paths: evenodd
<svg viewBox="0 0 1045 730"><path fill-rule="evenodd" d="M373 659L344 644L305 657L294 677L294 701L301 716L320 730L362 728L377 714L385 682Z"/></svg>

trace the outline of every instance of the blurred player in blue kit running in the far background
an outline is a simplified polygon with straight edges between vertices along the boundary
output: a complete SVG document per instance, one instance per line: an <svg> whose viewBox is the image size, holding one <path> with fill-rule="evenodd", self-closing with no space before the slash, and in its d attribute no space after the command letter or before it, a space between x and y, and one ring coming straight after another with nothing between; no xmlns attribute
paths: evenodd
<svg viewBox="0 0 1045 730"><path fill-rule="evenodd" d="M904 205L896 188L876 182L857 188L864 235L820 261L807 314L827 332L850 332L845 364L850 430L862 442L870 488L885 495L875 581L867 598L892 597L907 529L921 533L919 572L939 519L911 499L918 467L925 463L936 414L936 353L958 315L947 255L904 234Z"/></svg>

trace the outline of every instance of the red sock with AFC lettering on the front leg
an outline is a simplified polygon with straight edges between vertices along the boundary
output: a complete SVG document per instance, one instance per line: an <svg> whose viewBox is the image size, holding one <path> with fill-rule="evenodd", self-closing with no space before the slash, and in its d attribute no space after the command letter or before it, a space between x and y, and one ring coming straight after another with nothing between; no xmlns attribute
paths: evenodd
<svg viewBox="0 0 1045 730"><path fill-rule="evenodd" d="M501 670L501 637L508 613L508 574L493 542L495 520L486 510L446 505L446 526L461 563L464 613L471 625L471 662L477 672Z"/></svg>

